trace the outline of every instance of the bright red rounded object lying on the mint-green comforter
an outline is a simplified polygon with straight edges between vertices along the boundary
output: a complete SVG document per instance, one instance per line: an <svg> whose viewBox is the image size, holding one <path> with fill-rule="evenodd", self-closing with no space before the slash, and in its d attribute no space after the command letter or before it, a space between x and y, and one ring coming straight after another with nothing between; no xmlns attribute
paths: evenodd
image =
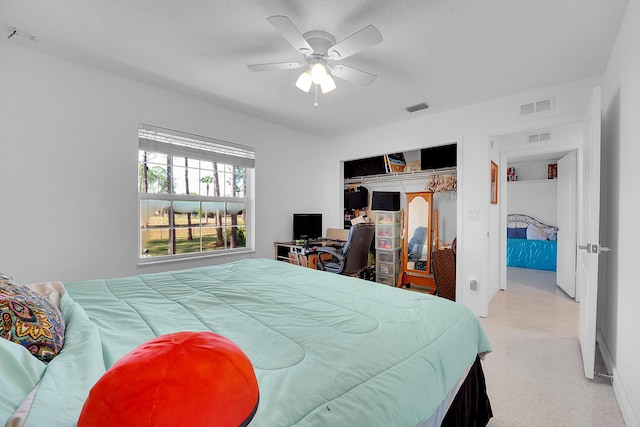
<svg viewBox="0 0 640 427"><path fill-rule="evenodd" d="M78 427L245 426L258 409L249 358L212 332L156 337L93 386Z"/></svg>

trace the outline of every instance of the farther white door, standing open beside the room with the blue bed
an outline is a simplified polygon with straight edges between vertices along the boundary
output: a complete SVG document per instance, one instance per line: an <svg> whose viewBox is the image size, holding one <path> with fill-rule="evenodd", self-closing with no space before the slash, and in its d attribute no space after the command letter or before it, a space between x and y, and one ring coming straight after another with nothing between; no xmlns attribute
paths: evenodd
<svg viewBox="0 0 640 427"><path fill-rule="evenodd" d="M576 152L558 160L558 257L556 284L576 296Z"/></svg>

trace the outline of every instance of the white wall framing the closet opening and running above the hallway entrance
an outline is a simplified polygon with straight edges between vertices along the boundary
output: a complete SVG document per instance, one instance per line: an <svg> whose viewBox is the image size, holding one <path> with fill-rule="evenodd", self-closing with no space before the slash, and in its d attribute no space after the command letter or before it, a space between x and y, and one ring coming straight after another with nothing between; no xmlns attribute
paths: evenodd
<svg viewBox="0 0 640 427"><path fill-rule="evenodd" d="M396 125L361 132L333 140L330 153L335 160L350 160L396 151L409 151L458 141L458 250L457 295L476 314L487 315L488 303L497 292L497 277L489 275L489 254L499 257L499 239L489 233L489 137L528 129L548 128L582 120L583 112L599 78L545 88L517 96L443 113L426 110ZM531 99L555 97L554 112L520 116L520 104ZM437 106L435 106L437 107ZM497 159L496 159L497 160ZM336 182L339 179L336 166ZM333 172L327 170L327 176ZM327 199L340 212L339 193ZM497 212L497 209L496 209ZM475 215L477 213L477 215ZM496 213L497 214L497 213ZM497 276L497 275L496 275ZM471 278L478 280L478 291L471 291Z"/></svg>

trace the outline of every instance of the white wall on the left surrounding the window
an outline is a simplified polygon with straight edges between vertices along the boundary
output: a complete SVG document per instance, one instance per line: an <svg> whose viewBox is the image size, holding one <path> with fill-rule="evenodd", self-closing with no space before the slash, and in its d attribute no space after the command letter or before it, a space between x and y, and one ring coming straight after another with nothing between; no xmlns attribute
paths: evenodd
<svg viewBox="0 0 640 427"><path fill-rule="evenodd" d="M273 257L292 212L329 217L322 183L302 178L322 158L309 135L3 41L0 58L0 271L69 281ZM137 267L140 122L255 147L255 254Z"/></svg>

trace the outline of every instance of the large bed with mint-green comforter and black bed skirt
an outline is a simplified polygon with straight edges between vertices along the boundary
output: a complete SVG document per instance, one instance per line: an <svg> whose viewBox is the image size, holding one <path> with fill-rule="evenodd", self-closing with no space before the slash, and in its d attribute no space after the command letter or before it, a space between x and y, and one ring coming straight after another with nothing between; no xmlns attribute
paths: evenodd
<svg viewBox="0 0 640 427"><path fill-rule="evenodd" d="M248 356L250 426L485 425L481 358L464 305L267 259L58 283L64 347L48 364L0 339L0 425L73 426L95 382L154 337L213 331ZM11 374L13 373L13 374ZM16 412L17 410L17 412ZM15 421L15 420L14 420Z"/></svg>

